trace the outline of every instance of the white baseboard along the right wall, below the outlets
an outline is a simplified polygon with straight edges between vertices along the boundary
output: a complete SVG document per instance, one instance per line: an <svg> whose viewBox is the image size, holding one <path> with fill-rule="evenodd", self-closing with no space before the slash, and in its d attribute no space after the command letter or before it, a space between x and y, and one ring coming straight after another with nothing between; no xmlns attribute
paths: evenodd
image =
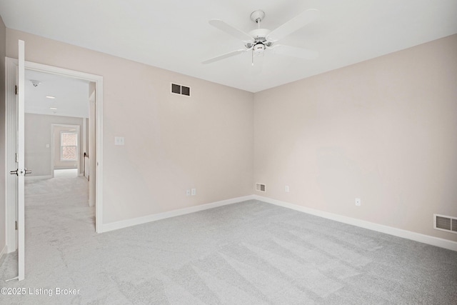
<svg viewBox="0 0 457 305"><path fill-rule="evenodd" d="M361 219L355 219L355 218L351 218L351 217L347 217L347 216L341 216L341 215L329 213L329 212L326 212L326 211L319 211L319 210L316 210L316 209L310 209L310 208L307 208L305 206L298 206L296 204L289 204L288 202L279 201L279 200L276 200L276 199L270 199L270 198L262 197L262 196L258 196L258 195L253 195L253 198L258 200L258 201L267 202L268 204L275 204L276 206L283 206L283 207L288 208L288 209L293 209L293 210L301 211L303 213L311 214L311 215L314 215L314 216L319 216L319 217L323 217L323 218L326 218L326 219L339 221L339 222L342 222L344 224L351 224L353 226L359 226L359 227L364 228L364 229L369 229L369 230L372 230L372 231L378 231L378 232L381 232L381 233L385 233L385 234L389 234L389 235L393 235L393 236L398 236L398 237L401 237L403 239L411 239L413 241L419 241L419 242L421 242L423 244L430 244L432 246L439 246L441 248L457 251L457 242L456 241L449 241L447 239L440 239L438 237L429 236L429 235L425 235L425 234L420 234L420 233L416 233L416 232L413 232L413 231L406 231L406 230L403 230L403 229L393 228L392 226L384 226L382 224L375 224L375 223L370 222L370 221L364 221L364 220L361 220Z"/></svg>

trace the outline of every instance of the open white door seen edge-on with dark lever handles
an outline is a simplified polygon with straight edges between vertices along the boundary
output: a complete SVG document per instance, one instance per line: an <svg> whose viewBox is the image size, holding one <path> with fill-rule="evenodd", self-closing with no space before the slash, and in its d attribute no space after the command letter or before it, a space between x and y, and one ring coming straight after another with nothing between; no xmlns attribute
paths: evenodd
<svg viewBox="0 0 457 305"><path fill-rule="evenodd" d="M24 41L19 40L18 55L18 82L17 82L17 142L16 142L16 170L11 170L10 174L17 176L17 263L18 276L14 279L19 281L25 277L25 224L24 224L24 177L31 171L24 166L24 74L25 74L25 51Z"/></svg>

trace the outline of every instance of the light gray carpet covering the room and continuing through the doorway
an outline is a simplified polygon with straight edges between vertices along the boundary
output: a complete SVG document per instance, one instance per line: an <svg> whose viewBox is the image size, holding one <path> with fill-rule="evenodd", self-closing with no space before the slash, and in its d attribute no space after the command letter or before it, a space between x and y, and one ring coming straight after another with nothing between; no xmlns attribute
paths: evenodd
<svg viewBox="0 0 457 305"><path fill-rule="evenodd" d="M86 183L27 184L26 279L0 281L26 295L0 304L457 304L455 251L259 201L95 234Z"/></svg>

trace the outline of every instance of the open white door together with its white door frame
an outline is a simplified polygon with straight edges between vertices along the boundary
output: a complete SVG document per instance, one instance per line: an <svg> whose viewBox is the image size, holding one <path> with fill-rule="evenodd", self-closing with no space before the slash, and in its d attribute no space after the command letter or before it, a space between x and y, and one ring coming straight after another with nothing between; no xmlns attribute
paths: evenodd
<svg viewBox="0 0 457 305"><path fill-rule="evenodd" d="M6 164L11 175L6 179L7 201L7 253L18 251L18 276L19 281L25 278L25 217L24 217L24 176L29 174L24 163L24 101L25 101L25 68L60 74L91 81L94 91L94 121L93 158L94 174L93 183L94 205L96 206L96 232L103 232L103 76L86 74L80 71L47 66L24 60L24 41L19 41L18 61L6 57ZM16 90L15 90L16 88ZM95 117L96 116L96 117ZM96 134L96 136L95 136ZM13 176L14 175L14 176Z"/></svg>

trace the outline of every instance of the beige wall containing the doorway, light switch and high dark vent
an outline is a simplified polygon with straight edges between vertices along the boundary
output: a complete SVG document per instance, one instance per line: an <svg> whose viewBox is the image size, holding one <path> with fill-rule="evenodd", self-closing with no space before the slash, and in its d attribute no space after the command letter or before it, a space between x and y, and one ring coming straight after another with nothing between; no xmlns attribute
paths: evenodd
<svg viewBox="0 0 457 305"><path fill-rule="evenodd" d="M27 61L104 76L105 224L252 194L253 94L11 29L7 56L17 39Z"/></svg>

